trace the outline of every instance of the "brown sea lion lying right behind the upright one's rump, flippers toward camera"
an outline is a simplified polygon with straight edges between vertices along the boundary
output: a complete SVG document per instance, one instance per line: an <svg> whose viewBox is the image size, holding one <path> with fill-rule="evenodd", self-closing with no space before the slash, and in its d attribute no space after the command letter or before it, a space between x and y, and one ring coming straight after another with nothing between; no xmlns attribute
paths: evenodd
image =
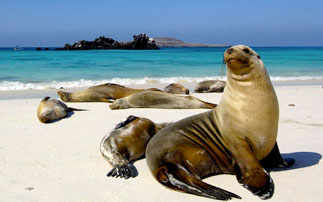
<svg viewBox="0 0 323 202"><path fill-rule="evenodd" d="M129 116L105 136L100 144L102 156L113 166L108 177L128 179L137 176L133 166L145 156L148 141L168 123L156 124L149 119Z"/></svg>

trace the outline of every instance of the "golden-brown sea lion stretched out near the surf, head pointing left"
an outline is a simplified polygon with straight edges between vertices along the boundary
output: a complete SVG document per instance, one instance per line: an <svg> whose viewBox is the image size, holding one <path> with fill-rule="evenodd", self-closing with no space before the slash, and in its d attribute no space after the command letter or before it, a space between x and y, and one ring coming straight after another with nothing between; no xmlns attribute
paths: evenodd
<svg viewBox="0 0 323 202"><path fill-rule="evenodd" d="M111 100L127 97L134 93L145 91L146 89L134 89L114 83L105 83L92 86L76 92L57 91L57 94L64 102L113 102ZM147 90L161 91L157 88Z"/></svg>

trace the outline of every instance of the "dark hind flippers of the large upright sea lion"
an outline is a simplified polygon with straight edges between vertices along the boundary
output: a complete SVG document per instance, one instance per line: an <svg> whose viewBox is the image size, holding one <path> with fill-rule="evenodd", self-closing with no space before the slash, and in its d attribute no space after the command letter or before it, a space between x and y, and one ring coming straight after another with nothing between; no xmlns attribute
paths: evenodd
<svg viewBox="0 0 323 202"><path fill-rule="evenodd" d="M203 182L199 177L183 167L179 168L174 165L162 166L159 168L156 178L161 184L175 191L217 200L241 199L240 196L234 193Z"/></svg>

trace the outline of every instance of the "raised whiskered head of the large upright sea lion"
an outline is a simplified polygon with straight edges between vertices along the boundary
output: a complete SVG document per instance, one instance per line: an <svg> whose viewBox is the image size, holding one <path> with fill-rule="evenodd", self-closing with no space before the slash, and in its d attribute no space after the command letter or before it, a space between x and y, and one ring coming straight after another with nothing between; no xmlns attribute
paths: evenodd
<svg viewBox="0 0 323 202"><path fill-rule="evenodd" d="M237 45L228 48L224 52L224 62L233 78L238 80L248 80L250 73L255 68L263 69L263 62L260 56L245 45Z"/></svg>

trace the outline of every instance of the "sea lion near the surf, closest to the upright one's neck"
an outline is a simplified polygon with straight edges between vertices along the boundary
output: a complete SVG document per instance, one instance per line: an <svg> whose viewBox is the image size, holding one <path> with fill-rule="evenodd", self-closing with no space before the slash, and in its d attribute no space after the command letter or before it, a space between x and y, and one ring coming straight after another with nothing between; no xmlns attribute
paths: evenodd
<svg viewBox="0 0 323 202"><path fill-rule="evenodd" d="M225 87L225 81L220 80L206 80L197 84L194 92L196 93L222 93Z"/></svg>

